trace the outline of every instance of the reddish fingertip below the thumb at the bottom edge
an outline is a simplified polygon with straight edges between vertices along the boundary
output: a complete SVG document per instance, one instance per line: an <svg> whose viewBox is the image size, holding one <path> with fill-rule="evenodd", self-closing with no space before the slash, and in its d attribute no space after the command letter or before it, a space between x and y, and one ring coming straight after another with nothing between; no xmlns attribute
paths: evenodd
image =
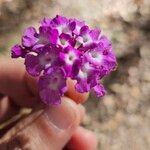
<svg viewBox="0 0 150 150"><path fill-rule="evenodd" d="M64 150L96 150L97 139L92 131L78 127Z"/></svg>

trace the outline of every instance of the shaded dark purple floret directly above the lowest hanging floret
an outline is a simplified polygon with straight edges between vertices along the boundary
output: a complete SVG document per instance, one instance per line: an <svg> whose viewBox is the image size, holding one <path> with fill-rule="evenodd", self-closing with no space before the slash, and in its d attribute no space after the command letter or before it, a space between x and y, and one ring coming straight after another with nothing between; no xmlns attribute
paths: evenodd
<svg viewBox="0 0 150 150"><path fill-rule="evenodd" d="M59 66L59 51L60 49L57 47L46 46L39 53L28 53L25 58L26 70L32 76L39 76L42 70Z"/></svg>

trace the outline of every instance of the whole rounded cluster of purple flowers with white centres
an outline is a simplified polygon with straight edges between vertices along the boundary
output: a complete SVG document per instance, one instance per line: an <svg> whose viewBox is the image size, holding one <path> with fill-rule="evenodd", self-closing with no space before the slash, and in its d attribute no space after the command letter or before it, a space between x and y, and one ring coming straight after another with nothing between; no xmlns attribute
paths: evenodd
<svg viewBox="0 0 150 150"><path fill-rule="evenodd" d="M66 80L76 80L78 92L93 89L105 94L100 80L116 68L111 42L83 21L57 15L44 18L38 32L28 27L22 44L12 47L12 58L25 58L27 72L39 76L39 95L46 104L60 104Z"/></svg>

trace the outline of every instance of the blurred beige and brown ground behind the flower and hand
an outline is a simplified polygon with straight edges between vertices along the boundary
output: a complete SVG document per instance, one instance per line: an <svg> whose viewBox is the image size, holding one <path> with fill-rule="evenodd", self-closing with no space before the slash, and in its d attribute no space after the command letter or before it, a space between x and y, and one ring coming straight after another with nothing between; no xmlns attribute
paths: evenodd
<svg viewBox="0 0 150 150"><path fill-rule="evenodd" d="M100 27L113 42L119 65L104 79L107 95L85 104L83 126L98 150L150 150L150 0L0 0L0 55L25 27L56 14Z"/></svg>

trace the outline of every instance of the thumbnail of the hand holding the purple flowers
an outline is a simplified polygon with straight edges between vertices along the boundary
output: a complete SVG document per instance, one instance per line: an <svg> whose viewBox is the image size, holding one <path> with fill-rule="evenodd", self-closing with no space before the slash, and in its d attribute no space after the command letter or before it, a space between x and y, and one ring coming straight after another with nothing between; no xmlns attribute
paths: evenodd
<svg viewBox="0 0 150 150"><path fill-rule="evenodd" d="M62 100L61 105L49 107L45 111L45 115L54 127L65 130L70 128L75 122L77 114L75 105L70 100Z"/></svg>

